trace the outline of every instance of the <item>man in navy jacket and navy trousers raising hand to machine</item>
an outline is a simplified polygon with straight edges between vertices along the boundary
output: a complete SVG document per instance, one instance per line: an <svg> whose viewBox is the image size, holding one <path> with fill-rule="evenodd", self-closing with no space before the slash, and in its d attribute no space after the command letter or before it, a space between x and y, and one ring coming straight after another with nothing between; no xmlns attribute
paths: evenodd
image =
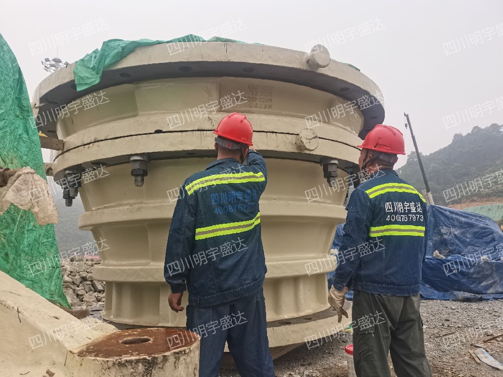
<svg viewBox="0 0 503 377"><path fill-rule="evenodd" d="M187 329L201 337L201 377L218 375L225 342L242 376L274 377L259 211L266 163L251 147L246 116L224 117L214 134L217 160L185 180L173 214L164 264L168 300L180 312L189 293Z"/></svg>

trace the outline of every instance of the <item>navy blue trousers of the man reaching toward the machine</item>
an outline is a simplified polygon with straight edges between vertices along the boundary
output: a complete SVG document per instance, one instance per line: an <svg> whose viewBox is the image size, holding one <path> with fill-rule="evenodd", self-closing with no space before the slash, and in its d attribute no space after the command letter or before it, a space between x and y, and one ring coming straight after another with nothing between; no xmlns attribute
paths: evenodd
<svg viewBox="0 0 503 377"><path fill-rule="evenodd" d="M201 336L199 377L216 377L225 342L243 377L274 377L263 291L216 308L187 306L187 329Z"/></svg>

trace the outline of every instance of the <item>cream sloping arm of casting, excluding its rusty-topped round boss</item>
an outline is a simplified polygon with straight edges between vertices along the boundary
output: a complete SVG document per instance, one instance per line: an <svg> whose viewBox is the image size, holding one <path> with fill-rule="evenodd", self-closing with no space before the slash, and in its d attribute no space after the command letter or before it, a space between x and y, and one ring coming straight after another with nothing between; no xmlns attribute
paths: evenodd
<svg viewBox="0 0 503 377"><path fill-rule="evenodd" d="M65 374L67 351L117 329L77 319L0 271L0 374Z"/></svg>

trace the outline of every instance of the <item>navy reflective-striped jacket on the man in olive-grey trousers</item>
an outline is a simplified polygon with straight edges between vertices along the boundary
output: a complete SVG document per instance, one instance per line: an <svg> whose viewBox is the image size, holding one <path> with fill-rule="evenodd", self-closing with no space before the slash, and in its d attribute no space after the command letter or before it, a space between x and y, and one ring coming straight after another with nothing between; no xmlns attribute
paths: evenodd
<svg viewBox="0 0 503 377"><path fill-rule="evenodd" d="M351 195L334 288L380 295L419 293L426 252L426 202L391 169L377 171Z"/></svg>

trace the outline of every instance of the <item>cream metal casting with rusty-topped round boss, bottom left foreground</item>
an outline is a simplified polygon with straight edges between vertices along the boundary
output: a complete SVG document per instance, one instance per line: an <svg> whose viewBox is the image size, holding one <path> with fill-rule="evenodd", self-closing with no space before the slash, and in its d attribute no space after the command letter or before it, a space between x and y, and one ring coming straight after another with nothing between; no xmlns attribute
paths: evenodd
<svg viewBox="0 0 503 377"><path fill-rule="evenodd" d="M119 331L92 317L77 319L1 271L0 324L0 375L199 374L197 334L161 328Z"/></svg>

